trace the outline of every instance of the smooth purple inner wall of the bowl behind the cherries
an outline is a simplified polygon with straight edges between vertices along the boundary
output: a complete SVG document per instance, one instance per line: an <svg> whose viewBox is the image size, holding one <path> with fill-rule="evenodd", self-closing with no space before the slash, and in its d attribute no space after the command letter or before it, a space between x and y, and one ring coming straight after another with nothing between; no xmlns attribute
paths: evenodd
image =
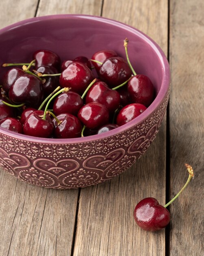
<svg viewBox="0 0 204 256"><path fill-rule="evenodd" d="M100 17L44 16L1 29L0 65L31 61L32 54L37 49L50 49L59 54L61 61L80 55L91 58L94 52L101 49L113 49L125 58L123 40L126 37L129 39L129 58L136 73L149 76L158 95L165 80L165 69L169 68L164 63L166 58L163 52L140 31ZM0 78L7 69L8 67L0 67ZM157 103L164 98L168 86L167 82L163 95L155 100ZM154 107L153 103L152 106ZM148 115L145 112L143 114Z"/></svg>

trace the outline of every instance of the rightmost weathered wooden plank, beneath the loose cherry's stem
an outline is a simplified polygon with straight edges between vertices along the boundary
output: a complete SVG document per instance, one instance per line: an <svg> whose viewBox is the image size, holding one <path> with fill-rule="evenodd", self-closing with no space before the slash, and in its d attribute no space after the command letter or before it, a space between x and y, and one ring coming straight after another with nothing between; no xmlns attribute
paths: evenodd
<svg viewBox="0 0 204 256"><path fill-rule="evenodd" d="M201 256L204 253L204 2L170 2L171 198L188 177L184 163L195 170L193 182L170 206L170 255Z"/></svg>

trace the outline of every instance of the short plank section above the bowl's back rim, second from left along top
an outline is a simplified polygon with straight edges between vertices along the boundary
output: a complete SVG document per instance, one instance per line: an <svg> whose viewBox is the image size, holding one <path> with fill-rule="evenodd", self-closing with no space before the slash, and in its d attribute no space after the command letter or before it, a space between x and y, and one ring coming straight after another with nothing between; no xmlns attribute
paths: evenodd
<svg viewBox="0 0 204 256"><path fill-rule="evenodd" d="M37 16L60 13L81 13L100 16L101 7L102 0L41 0Z"/></svg>

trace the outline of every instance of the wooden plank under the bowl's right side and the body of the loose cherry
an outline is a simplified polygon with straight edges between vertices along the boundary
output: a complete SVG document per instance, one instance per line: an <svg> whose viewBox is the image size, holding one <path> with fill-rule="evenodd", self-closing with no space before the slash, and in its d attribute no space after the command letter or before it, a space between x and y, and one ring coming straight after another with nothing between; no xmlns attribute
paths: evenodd
<svg viewBox="0 0 204 256"><path fill-rule="evenodd" d="M104 0L103 16L138 27L167 54L168 1ZM74 256L165 255L165 231L145 232L133 218L136 203L147 196L165 204L165 123L132 168L81 190Z"/></svg>

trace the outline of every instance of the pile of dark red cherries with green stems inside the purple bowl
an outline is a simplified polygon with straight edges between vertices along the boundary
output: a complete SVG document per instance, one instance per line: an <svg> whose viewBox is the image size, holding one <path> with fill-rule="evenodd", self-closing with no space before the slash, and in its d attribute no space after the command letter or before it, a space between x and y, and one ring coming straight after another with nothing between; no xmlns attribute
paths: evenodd
<svg viewBox="0 0 204 256"><path fill-rule="evenodd" d="M132 68L127 43L126 38L127 61L105 49L91 59L79 56L61 64L56 53L37 50L31 63L4 63L12 67L1 83L0 127L35 137L76 138L136 118L155 92L150 79Z"/></svg>

